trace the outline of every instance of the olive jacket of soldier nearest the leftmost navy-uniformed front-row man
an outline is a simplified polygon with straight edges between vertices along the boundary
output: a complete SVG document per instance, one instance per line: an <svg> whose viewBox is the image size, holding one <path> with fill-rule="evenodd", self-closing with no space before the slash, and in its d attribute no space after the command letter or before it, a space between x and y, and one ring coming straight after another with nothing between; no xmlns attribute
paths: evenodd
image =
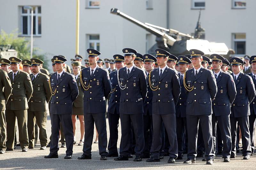
<svg viewBox="0 0 256 170"><path fill-rule="evenodd" d="M30 74L30 79L33 79L34 74ZM37 74L35 80L32 81L33 94L28 101L28 111L38 112L45 111L47 103L50 101L52 94L49 86L49 77L41 73Z"/></svg>

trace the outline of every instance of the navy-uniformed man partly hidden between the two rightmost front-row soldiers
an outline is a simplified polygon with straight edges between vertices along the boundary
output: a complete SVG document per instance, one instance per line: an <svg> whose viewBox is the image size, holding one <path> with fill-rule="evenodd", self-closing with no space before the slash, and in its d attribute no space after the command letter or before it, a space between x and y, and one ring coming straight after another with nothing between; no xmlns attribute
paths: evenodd
<svg viewBox="0 0 256 170"><path fill-rule="evenodd" d="M180 97L178 100L178 104L175 107L176 109L176 133L177 133L177 141L178 141L178 157L177 159L182 159L183 152L185 150L184 143L188 143L188 138L186 140L186 136L188 136L187 132L187 119L186 119L186 106L187 106L187 98L188 94L185 92L186 89L183 85L184 73L188 70L189 64L191 60L187 57L180 55L178 56L179 70L180 73ZM186 132L186 133L185 133Z"/></svg>

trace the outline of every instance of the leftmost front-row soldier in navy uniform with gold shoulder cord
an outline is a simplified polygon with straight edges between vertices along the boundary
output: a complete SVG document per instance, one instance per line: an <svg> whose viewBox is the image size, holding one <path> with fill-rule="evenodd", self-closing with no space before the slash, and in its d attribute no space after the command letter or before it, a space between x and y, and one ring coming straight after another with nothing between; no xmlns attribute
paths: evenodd
<svg viewBox="0 0 256 170"><path fill-rule="evenodd" d="M56 73L50 76L49 85L51 86L51 124L52 140L50 154L44 158L58 158L59 151L59 130L60 122L63 125L67 151L64 159L71 159L73 154L73 124L72 124L72 102L78 96L78 87L74 75L64 70L67 59L56 55L53 56Z"/></svg>

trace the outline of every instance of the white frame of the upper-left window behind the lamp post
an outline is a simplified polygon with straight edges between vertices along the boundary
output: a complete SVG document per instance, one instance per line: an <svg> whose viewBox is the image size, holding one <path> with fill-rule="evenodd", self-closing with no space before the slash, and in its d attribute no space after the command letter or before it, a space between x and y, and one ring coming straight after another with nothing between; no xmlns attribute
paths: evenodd
<svg viewBox="0 0 256 170"><path fill-rule="evenodd" d="M22 36L22 37L30 37L31 36L31 10L27 10L27 13L22 13L22 8L24 6L20 6L20 30L21 30L21 34L19 36ZM34 20L35 20L35 24L33 24L33 26L35 26L35 30L36 32L34 33L33 31L33 37L40 37L42 36L42 7L41 6L32 6L32 7L35 7L35 10L34 10L34 13L33 13L33 17ZM38 13L38 7L41 7L41 13ZM28 34L23 34L23 17L27 17L27 26L28 26ZM41 33L39 34L38 33L38 27L39 27L39 24L38 24L38 17L41 17Z"/></svg>

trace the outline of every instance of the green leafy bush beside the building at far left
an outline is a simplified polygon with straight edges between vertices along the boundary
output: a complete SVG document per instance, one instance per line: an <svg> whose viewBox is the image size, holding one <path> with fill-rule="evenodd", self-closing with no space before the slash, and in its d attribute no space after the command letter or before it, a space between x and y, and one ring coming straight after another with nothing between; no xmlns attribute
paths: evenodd
<svg viewBox="0 0 256 170"><path fill-rule="evenodd" d="M12 31L12 33L6 33L4 30L1 30L0 33L0 45L12 45L12 49L18 51L18 58L21 60L30 59L30 41L25 37L18 36L18 29ZM48 69L48 60L45 60L46 54L40 54L42 52L40 48L33 48L33 58L38 58L44 61L44 68Z"/></svg>

